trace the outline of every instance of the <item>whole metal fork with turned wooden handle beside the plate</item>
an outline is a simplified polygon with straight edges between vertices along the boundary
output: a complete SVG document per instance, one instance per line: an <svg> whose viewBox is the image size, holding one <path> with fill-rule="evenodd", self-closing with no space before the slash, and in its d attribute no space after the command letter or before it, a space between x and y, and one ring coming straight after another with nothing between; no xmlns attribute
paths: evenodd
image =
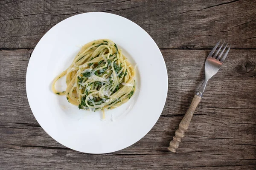
<svg viewBox="0 0 256 170"><path fill-rule="evenodd" d="M170 142L170 146L168 147L168 149L174 153L176 152L176 149L179 147L179 143L181 142L181 139L184 137L185 130L187 130L189 127L189 123L195 112L195 108L197 107L197 105L199 104L199 102L203 97L204 89L206 87L208 80L218 72L224 60L226 59L228 52L230 51L230 47L229 47L226 53L224 54L224 56L221 58L228 44L221 51L221 48L224 45L224 43L218 48L218 45L220 44L220 42L221 41L219 41L215 45L215 47L212 49L212 51L208 55L204 65L205 79L204 79L203 85L201 86L201 88L199 88L198 92L196 92L192 100L192 103L189 106L188 111L186 112L185 116L181 120L179 124L179 128L175 131L175 136L173 136L173 139ZM218 51L212 57L212 55L214 54L217 48L218 48ZM221 51L221 54L218 55L220 51Z"/></svg>

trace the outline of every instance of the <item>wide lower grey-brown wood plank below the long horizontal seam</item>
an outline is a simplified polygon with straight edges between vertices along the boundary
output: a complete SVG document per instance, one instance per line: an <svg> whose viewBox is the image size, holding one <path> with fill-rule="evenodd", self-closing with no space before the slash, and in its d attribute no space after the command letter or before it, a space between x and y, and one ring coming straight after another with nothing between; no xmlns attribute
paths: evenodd
<svg viewBox="0 0 256 170"><path fill-rule="evenodd" d="M256 50L230 50L221 70L209 80L177 152L166 149L203 81L209 51L161 50L169 89L160 119L131 147L92 155L62 146L35 120L25 88L32 50L1 50L0 170L254 170Z"/></svg>

